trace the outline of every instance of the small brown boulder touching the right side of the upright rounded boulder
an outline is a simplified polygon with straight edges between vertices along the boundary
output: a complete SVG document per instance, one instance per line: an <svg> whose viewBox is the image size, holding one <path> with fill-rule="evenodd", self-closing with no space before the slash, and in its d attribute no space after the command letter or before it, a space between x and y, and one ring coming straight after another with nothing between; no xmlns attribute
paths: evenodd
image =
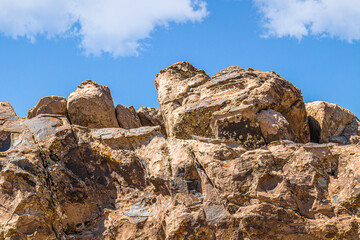
<svg viewBox="0 0 360 240"><path fill-rule="evenodd" d="M116 118L121 128L130 129L141 127L140 119L133 106L127 108L118 104L116 106Z"/></svg>

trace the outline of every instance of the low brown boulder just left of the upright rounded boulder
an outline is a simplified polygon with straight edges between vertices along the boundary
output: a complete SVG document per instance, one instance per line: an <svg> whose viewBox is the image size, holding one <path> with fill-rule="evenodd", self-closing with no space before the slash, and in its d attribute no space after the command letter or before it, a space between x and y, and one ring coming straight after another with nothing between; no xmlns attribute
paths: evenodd
<svg viewBox="0 0 360 240"><path fill-rule="evenodd" d="M47 96L39 100L36 106L28 111L27 118L33 118L40 114L59 114L66 116L67 101L64 97Z"/></svg>

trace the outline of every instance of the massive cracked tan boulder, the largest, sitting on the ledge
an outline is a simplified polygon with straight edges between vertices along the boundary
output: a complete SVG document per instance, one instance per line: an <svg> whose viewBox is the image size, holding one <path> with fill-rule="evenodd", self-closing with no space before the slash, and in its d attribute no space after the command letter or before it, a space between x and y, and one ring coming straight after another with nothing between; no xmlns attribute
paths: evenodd
<svg viewBox="0 0 360 240"><path fill-rule="evenodd" d="M301 91L275 72L230 66L210 78L204 70L178 62L161 70L155 85L170 137L233 139L249 149L284 137L295 140L291 133L297 142L310 140ZM259 112L269 109L273 117L268 120L274 122L262 121L260 127ZM262 132L270 128L289 134L270 137Z"/></svg>

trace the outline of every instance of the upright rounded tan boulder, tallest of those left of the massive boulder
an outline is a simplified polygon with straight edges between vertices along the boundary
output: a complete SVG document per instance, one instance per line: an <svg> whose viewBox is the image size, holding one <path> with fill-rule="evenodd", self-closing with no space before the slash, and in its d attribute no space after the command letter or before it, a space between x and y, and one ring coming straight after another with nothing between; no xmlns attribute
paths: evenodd
<svg viewBox="0 0 360 240"><path fill-rule="evenodd" d="M117 128L110 89L91 80L82 82L68 97L67 110L72 124L89 128Z"/></svg>

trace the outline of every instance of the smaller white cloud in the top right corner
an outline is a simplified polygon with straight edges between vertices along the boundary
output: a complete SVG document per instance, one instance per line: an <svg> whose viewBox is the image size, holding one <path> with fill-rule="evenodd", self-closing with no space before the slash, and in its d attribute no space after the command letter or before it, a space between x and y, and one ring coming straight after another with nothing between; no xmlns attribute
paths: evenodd
<svg viewBox="0 0 360 240"><path fill-rule="evenodd" d="M253 0L264 15L266 36L307 35L360 40L359 0Z"/></svg>

